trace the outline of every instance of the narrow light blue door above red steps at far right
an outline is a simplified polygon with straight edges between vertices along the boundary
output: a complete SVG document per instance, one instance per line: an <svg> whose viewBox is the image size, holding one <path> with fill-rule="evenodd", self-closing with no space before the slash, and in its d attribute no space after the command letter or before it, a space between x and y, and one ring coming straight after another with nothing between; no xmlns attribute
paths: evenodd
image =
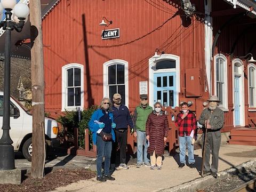
<svg viewBox="0 0 256 192"><path fill-rule="evenodd" d="M240 125L240 101L239 101L239 76L235 76L235 85L234 85L234 96L235 96L235 125Z"/></svg>

